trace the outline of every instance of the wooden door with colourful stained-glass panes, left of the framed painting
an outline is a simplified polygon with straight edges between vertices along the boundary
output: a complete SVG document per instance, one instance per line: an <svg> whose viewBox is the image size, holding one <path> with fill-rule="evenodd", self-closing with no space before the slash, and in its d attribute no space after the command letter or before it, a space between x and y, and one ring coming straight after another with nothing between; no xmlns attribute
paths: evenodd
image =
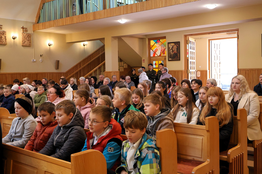
<svg viewBox="0 0 262 174"><path fill-rule="evenodd" d="M149 38L149 63L153 64L153 69L157 72L159 70L158 64L164 64L166 67L166 39L163 38Z"/></svg>

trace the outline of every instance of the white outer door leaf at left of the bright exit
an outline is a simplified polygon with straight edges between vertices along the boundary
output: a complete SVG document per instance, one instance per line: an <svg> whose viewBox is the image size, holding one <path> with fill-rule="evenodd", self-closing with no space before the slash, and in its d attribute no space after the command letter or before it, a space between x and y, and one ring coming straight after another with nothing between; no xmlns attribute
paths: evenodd
<svg viewBox="0 0 262 174"><path fill-rule="evenodd" d="M216 79L217 86L220 87L220 42L211 41L211 78Z"/></svg>

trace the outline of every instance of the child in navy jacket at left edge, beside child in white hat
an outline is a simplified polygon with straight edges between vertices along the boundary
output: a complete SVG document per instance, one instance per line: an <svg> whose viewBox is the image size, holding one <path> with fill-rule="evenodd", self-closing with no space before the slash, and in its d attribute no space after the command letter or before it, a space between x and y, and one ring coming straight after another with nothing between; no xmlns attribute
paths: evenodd
<svg viewBox="0 0 262 174"><path fill-rule="evenodd" d="M9 113L15 113L15 97L12 96L12 90L9 87L4 88L4 96L1 107L4 107ZM28 114L29 115L29 114Z"/></svg>

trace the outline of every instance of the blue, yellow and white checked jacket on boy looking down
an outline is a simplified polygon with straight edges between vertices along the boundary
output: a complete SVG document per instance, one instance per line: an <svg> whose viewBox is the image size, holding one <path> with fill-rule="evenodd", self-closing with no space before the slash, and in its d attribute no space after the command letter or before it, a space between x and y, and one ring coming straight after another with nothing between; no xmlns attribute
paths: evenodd
<svg viewBox="0 0 262 174"><path fill-rule="evenodd" d="M129 140L124 141L121 148L121 166L116 169L117 174L120 174L122 170L128 172L127 153L129 148ZM160 155L155 139L151 139L145 133L135 154L134 173L161 173Z"/></svg>

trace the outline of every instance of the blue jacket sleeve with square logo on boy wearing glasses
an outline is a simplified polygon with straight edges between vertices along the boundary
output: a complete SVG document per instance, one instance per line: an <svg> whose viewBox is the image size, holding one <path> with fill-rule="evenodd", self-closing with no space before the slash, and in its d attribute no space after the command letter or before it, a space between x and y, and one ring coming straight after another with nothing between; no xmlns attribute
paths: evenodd
<svg viewBox="0 0 262 174"><path fill-rule="evenodd" d="M107 143L104 148L103 155L107 162L107 169L111 169L121 155L121 147L115 142Z"/></svg>

